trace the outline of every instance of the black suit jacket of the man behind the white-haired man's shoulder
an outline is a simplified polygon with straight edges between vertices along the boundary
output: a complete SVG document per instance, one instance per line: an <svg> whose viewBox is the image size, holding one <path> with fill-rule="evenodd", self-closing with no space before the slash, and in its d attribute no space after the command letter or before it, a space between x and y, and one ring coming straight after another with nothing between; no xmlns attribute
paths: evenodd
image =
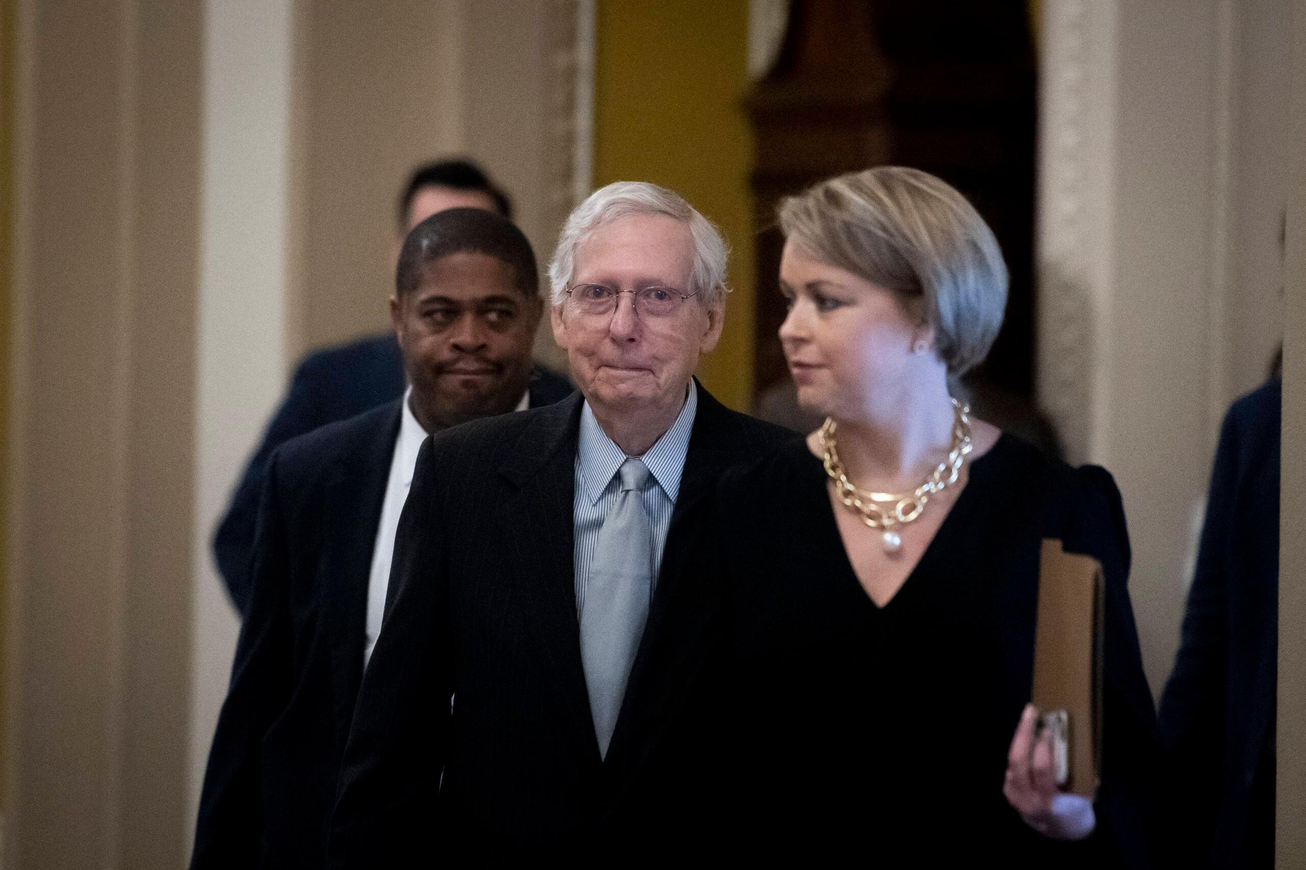
<svg viewBox="0 0 1306 870"><path fill-rule="evenodd" d="M538 407L560 378L532 383ZM320 867L363 676L398 400L293 438L263 475L253 600L209 753L192 867Z"/></svg>

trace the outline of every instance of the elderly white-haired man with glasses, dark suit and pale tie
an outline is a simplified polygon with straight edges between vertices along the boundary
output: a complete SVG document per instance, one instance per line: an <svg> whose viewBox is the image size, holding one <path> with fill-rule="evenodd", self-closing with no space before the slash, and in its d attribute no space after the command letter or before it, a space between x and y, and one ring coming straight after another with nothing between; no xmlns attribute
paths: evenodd
<svg viewBox="0 0 1306 870"><path fill-rule="evenodd" d="M725 267L717 230L653 184L610 184L568 218L551 317L580 393L423 445L330 866L635 857L599 844L639 836L613 819L683 685L657 670L679 667L658 616L686 513L793 437L693 378Z"/></svg>

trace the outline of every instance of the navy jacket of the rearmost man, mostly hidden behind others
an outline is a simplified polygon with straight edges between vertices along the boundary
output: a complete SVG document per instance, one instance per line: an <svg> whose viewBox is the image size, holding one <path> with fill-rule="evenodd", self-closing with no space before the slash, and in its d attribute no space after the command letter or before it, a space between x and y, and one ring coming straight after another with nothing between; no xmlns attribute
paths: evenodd
<svg viewBox="0 0 1306 870"><path fill-rule="evenodd" d="M249 612L249 556L268 457L295 436L393 402L404 394L404 359L393 333L315 351L295 368L286 398L249 458L213 536L213 557L242 617ZM565 378L537 368L533 400L538 394L543 402L558 402L571 390Z"/></svg>

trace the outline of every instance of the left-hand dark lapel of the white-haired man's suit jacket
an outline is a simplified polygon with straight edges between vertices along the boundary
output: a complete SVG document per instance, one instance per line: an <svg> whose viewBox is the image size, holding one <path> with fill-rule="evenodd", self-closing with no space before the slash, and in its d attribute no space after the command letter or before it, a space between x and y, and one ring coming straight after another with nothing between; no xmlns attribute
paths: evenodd
<svg viewBox="0 0 1306 870"><path fill-rule="evenodd" d="M515 492L500 522L502 540L516 545L513 575L572 720L569 730L597 762L576 618L573 500L581 402L573 394L545 408L509 451L499 472Z"/></svg>

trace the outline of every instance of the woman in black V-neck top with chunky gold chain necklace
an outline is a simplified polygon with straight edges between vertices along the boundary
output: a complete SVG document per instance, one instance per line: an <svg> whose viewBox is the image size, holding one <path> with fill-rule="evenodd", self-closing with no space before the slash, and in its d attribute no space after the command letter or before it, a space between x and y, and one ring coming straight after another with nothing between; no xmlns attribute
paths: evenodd
<svg viewBox="0 0 1306 870"><path fill-rule="evenodd" d="M692 817L661 828L780 862L1145 866L1160 741L1121 494L948 391L1002 325L993 232L904 167L820 183L778 217L780 338L824 423L726 475L693 523L667 592L675 648L649 651L660 673L705 651L679 680L703 669L697 700L648 766L667 772L654 811ZM1092 802L1058 790L1029 704L1046 537L1106 577Z"/></svg>

